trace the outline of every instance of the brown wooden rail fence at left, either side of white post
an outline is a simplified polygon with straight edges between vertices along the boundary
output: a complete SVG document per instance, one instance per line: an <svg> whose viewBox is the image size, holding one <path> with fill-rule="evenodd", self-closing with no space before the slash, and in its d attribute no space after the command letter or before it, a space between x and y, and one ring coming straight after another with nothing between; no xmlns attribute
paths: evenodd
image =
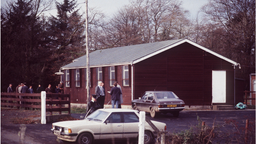
<svg viewBox="0 0 256 144"><path fill-rule="evenodd" d="M35 93L0 93L1 107L17 108L23 107L32 110L41 110L41 94ZM22 98L20 98L20 96ZM68 107L62 107L67 105ZM68 111L70 114L70 94L46 94L46 112Z"/></svg>

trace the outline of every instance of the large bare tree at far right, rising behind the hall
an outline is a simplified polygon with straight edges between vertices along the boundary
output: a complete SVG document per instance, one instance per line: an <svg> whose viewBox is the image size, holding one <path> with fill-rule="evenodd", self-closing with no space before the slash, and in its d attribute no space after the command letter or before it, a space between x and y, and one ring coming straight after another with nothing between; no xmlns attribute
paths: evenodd
<svg viewBox="0 0 256 144"><path fill-rule="evenodd" d="M255 0L212 0L202 11L225 31L221 54L242 65L240 77L256 71L256 2ZM248 88L248 86L247 86Z"/></svg>

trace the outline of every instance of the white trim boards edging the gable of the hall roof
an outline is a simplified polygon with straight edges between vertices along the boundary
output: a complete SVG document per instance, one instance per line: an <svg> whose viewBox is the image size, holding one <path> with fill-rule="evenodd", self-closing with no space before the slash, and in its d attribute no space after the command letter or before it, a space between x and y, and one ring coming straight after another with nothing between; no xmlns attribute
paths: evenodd
<svg viewBox="0 0 256 144"><path fill-rule="evenodd" d="M158 51L156 51L156 52L154 52L154 53L152 53L152 54L150 54L150 55L147 55L147 56L144 56L144 57L142 57L142 58L139 58L139 59L133 61L133 64L135 64L135 63L137 63L137 62L140 62L140 61L142 61L142 60L145 60L145 59L147 59L147 58L149 58L149 57L152 57L152 56L154 56L154 55L157 55L157 54L159 54L159 53L161 53L161 52L163 52L163 51L166 51L166 50L168 50L168 49L171 49L171 48L173 48L173 47L175 47L175 46L178 46L178 45L180 45L180 44L182 44L182 43L184 43L184 42L188 42L188 43L191 44L191 45L194 45L194 46L196 46L196 47L199 47L200 49L205 50L206 52L209 52L210 54L213 54L213 55L215 55L215 56L217 56L217 57L219 57L219 58L222 58L223 60L226 60L226 61L232 63L233 65L237 65L236 62L234 62L234 61L232 61L232 60L230 60L230 59L228 59L228 58L226 58L226 57L223 57L223 56L221 56L221 55L219 55L219 54L217 54L217 53L215 53L215 52L213 52L213 51L211 51L211 50L209 50L209 49L206 49L205 47L202 47L202 46L200 46L199 44L196 44L195 42L190 41L190 40L188 40L188 39L181 40L181 41L176 42L176 43L174 43L174 44L172 44L172 45L170 45L170 46L167 46L167 47L165 47L165 48L163 48L163 49L161 49L161 50L158 50Z"/></svg>

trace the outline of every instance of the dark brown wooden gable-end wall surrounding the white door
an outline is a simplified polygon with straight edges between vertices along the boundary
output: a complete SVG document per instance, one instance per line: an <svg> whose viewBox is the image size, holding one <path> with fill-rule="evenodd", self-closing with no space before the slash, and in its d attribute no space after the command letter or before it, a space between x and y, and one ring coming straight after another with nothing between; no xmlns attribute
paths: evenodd
<svg viewBox="0 0 256 144"><path fill-rule="evenodd" d="M188 43L135 64L135 99L147 90L170 90L187 105L211 105L212 70L226 70L226 100L233 103L232 63Z"/></svg>

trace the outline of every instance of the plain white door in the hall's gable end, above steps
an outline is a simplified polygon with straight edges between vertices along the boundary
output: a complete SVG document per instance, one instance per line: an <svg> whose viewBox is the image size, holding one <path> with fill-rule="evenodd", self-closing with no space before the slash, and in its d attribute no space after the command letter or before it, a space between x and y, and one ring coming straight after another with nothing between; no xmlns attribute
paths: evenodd
<svg viewBox="0 0 256 144"><path fill-rule="evenodd" d="M226 71L212 71L212 103L226 103Z"/></svg>

